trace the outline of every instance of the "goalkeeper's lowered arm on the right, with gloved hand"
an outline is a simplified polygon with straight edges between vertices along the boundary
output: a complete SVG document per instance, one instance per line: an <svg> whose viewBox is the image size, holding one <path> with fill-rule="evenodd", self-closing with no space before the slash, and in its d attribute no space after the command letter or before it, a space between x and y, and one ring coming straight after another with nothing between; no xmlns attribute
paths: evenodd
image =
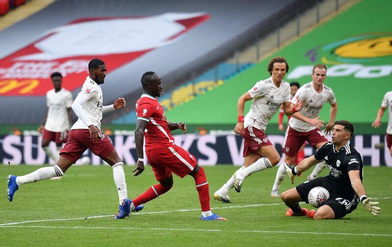
<svg viewBox="0 0 392 247"><path fill-rule="evenodd" d="M355 193L360 197L362 205L366 210L368 210L372 215L377 216L381 213L381 208L378 207L380 203L378 201L371 201L371 198L366 196L365 188L362 185L362 181L359 177L358 170L352 170L348 172L350 178L351 187L354 189Z"/></svg>

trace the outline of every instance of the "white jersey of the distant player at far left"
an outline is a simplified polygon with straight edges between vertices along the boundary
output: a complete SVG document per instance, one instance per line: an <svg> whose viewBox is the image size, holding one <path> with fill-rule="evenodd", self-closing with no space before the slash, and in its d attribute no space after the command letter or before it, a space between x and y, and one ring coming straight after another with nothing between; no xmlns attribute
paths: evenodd
<svg viewBox="0 0 392 247"><path fill-rule="evenodd" d="M46 104L48 106L48 116L45 122L45 129L52 132L63 132L70 129L67 108L72 106L72 94L62 88L55 92L54 89L46 94Z"/></svg>

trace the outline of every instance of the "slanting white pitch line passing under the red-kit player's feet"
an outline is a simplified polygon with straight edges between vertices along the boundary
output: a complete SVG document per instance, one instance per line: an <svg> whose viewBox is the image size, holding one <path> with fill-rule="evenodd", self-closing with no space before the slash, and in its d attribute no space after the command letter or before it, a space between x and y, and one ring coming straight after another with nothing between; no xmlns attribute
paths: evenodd
<svg viewBox="0 0 392 247"><path fill-rule="evenodd" d="M243 208L243 207L261 207L261 206L276 206L282 205L282 203L270 203L270 204L250 204L250 205L236 205L236 206L227 206L227 207L214 207L211 209L227 209L227 208ZM178 210L170 210L170 211L157 211L157 212L138 212L133 215L142 215L142 214L165 214L165 213L175 213L175 212L189 212L189 211L200 211L200 208L194 209L178 209ZM35 221L24 221L24 222L10 222L10 223L2 223L3 225L16 225L16 224L24 224L24 223L32 223L32 222L55 222L55 221L73 221L73 220L87 220L94 218L104 218L104 217L113 217L114 215L98 215L98 216L88 216L81 218L69 218L69 219L52 219L52 220L35 220Z"/></svg>

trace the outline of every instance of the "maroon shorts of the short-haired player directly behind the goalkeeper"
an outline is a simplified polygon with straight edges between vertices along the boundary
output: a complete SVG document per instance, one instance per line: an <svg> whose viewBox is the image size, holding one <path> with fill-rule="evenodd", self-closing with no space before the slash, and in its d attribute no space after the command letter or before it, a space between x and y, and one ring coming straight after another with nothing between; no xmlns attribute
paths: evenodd
<svg viewBox="0 0 392 247"><path fill-rule="evenodd" d="M282 151L289 157L295 157L305 141L307 141L312 147L315 147L319 143L328 142L327 138L325 138L319 128L315 128L308 132L300 132L296 131L290 125L287 125Z"/></svg>

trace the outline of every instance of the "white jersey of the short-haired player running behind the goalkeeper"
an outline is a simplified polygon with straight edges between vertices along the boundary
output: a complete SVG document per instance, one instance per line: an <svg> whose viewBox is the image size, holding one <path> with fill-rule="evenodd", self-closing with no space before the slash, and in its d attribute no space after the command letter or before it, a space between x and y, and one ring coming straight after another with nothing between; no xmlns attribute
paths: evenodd
<svg viewBox="0 0 392 247"><path fill-rule="evenodd" d="M324 106L325 102L328 101L330 104L334 104L336 102L332 89L323 85L321 93L318 93L313 87L312 82L306 83L299 88L291 102L296 104L298 100L302 100L302 109L299 113L311 119L319 116L320 110ZM289 125L299 132L308 132L316 128L316 126L294 117L290 118Z"/></svg>

